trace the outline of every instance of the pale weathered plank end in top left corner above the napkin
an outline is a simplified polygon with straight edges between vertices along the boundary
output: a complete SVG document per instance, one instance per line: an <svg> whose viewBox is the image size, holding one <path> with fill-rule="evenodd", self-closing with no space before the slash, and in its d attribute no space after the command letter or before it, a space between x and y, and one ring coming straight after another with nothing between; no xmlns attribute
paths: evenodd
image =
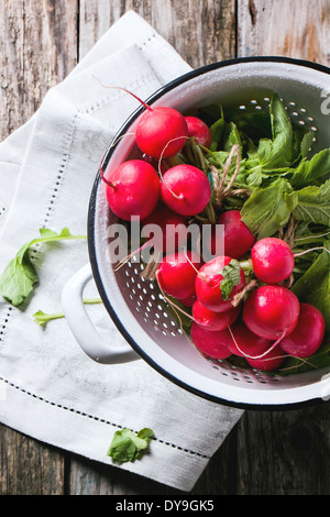
<svg viewBox="0 0 330 517"><path fill-rule="evenodd" d="M76 0L0 2L0 140L77 62Z"/></svg>

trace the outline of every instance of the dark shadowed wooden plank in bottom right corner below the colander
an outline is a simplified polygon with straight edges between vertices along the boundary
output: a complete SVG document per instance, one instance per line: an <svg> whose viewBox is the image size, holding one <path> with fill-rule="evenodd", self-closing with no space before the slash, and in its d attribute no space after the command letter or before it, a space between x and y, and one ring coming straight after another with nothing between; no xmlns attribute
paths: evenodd
<svg viewBox="0 0 330 517"><path fill-rule="evenodd" d="M238 494L327 495L329 404L288 413L246 411L238 433Z"/></svg>

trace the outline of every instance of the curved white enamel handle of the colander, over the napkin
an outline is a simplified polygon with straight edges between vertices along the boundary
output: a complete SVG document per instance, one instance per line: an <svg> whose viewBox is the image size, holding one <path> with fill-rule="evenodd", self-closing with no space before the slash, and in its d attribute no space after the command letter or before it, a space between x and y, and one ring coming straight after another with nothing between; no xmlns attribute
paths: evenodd
<svg viewBox="0 0 330 517"><path fill-rule="evenodd" d="M64 286L62 307L67 323L85 353L103 364L127 363L140 355L119 334L120 343L110 346L105 343L91 322L84 304L84 288L92 278L89 263L81 267Z"/></svg>

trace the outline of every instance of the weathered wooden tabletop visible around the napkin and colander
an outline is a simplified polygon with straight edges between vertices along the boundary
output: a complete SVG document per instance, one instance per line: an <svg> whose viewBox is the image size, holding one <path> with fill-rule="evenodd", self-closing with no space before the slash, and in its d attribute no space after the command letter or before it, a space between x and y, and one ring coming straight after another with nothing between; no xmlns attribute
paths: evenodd
<svg viewBox="0 0 330 517"><path fill-rule="evenodd" d="M253 55L330 66L330 0L2 0L1 140L32 116L46 91L130 9L193 67ZM329 408L322 403L289 411L246 410L191 494L329 495ZM0 494L179 492L0 425Z"/></svg>

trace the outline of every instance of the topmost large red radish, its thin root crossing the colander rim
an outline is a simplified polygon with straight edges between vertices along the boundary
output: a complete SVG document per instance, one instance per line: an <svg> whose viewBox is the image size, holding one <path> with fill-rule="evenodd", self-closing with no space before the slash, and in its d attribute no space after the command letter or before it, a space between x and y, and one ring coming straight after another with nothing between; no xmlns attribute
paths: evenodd
<svg viewBox="0 0 330 517"><path fill-rule="evenodd" d="M166 107L147 107L138 123L135 140L140 150L154 158L177 154L188 138L185 117Z"/></svg>

